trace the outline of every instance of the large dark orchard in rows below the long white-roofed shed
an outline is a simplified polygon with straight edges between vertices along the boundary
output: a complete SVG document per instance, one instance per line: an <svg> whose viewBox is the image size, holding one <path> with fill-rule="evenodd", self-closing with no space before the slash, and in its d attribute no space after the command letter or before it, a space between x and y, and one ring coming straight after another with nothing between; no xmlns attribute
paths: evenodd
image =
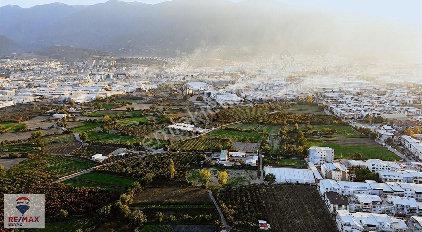
<svg viewBox="0 0 422 232"><path fill-rule="evenodd" d="M277 232L336 231L333 217L325 209L317 189L309 185L254 185L213 192L228 223L237 229L256 231L248 221L267 220ZM243 199L243 200L238 200ZM228 209L236 210L230 211Z"/></svg>

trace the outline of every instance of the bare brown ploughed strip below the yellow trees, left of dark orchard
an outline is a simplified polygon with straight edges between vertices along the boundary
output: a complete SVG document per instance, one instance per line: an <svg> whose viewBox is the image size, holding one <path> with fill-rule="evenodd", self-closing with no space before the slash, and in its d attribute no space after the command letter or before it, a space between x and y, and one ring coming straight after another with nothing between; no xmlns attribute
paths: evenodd
<svg viewBox="0 0 422 232"><path fill-rule="evenodd" d="M205 189L193 187L146 188L136 195L133 202L160 202L171 199L176 202L211 202Z"/></svg>

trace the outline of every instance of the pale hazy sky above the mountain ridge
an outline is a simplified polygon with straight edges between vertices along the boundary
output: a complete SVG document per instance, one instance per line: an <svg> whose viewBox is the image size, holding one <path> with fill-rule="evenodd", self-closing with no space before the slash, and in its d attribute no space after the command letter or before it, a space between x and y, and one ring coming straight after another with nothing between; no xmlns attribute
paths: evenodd
<svg viewBox="0 0 422 232"><path fill-rule="evenodd" d="M104 3L107 0L0 0L0 6L19 5L20 7L32 7L54 2L69 5L93 5ZM133 0L124 0L133 2ZM155 4L165 0L139 0L139 2ZM243 0L232 0L240 2ZM412 24L422 24L422 1L421 0L278 0L290 5L298 5L312 8L329 9L333 11L349 11L381 16L384 18L398 19Z"/></svg>

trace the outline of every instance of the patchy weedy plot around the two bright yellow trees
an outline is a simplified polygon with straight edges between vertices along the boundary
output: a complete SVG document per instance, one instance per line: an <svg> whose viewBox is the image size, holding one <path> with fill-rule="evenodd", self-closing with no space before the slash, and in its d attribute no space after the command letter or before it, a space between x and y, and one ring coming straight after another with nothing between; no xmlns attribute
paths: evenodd
<svg viewBox="0 0 422 232"><path fill-rule="evenodd" d="M208 185L209 189L220 188L221 185L218 183L218 173L220 170L215 168L208 168L211 172L211 181ZM196 186L201 186L198 181L199 169L193 169L189 171L188 181L193 181ZM237 187L242 185L247 185L251 183L259 183L259 177L257 171L255 170L235 170L227 169L225 170L228 174L227 183L230 183L231 186Z"/></svg>

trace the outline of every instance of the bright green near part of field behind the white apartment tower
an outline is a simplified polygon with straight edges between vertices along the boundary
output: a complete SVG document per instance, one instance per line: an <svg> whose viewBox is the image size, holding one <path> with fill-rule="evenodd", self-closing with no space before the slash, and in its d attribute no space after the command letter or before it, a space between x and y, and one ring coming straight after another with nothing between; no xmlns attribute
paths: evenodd
<svg viewBox="0 0 422 232"><path fill-rule="evenodd" d="M308 140L308 146L322 146L334 149L335 159L354 159L353 154L359 152L362 159L382 159L386 161L400 160L401 158L391 151L380 146L370 145L344 145L338 143L327 143L322 140Z"/></svg>

